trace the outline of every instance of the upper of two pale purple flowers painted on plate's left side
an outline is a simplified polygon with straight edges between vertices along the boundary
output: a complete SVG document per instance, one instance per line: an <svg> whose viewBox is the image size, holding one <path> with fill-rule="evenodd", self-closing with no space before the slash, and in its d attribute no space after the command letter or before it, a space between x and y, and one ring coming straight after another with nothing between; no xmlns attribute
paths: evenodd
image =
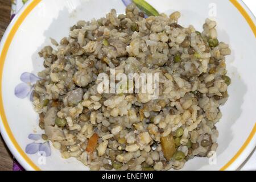
<svg viewBox="0 0 256 182"><path fill-rule="evenodd" d="M32 94L32 84L40 80L39 77L35 76L33 73L24 72L20 76L22 83L18 84L14 89L14 94L18 98L26 98ZM31 100L31 97L30 97Z"/></svg>

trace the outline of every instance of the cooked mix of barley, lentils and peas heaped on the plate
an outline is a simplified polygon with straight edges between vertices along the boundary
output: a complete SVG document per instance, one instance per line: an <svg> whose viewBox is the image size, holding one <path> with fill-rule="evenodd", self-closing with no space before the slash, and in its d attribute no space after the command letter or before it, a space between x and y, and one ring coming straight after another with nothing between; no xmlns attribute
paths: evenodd
<svg viewBox="0 0 256 182"><path fill-rule="evenodd" d="M42 80L33 94L39 126L63 158L92 170L180 169L216 151L220 105L228 99L228 44L216 22L203 32L177 24L179 12L144 18L134 4L126 14L79 21L54 49L44 47ZM159 98L99 94L97 76L159 73Z"/></svg>

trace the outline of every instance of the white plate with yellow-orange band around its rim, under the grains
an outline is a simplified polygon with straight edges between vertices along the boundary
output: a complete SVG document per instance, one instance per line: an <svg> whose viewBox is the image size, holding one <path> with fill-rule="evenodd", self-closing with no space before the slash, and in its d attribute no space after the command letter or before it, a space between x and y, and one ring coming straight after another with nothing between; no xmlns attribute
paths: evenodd
<svg viewBox="0 0 256 182"><path fill-rule="evenodd" d="M230 44L232 55L228 56L227 69L232 84L228 90L229 100L221 107L223 117L217 124L220 136L216 164L210 165L207 158L195 158L189 160L184 169L237 169L256 144L254 16L242 1L235 0L148 2L161 13L180 11L180 24L193 24L199 30L205 18L214 16L212 18L218 23L218 39ZM26 146L33 142L28 135L40 134L42 130L29 99L15 97L14 89L22 83L22 73L36 74L43 69L37 52L49 44L50 37L59 41L68 35L69 27L77 20L100 18L113 8L118 13L125 11L121 0L34 0L19 11L7 28L0 46L0 129L7 146L25 169L88 169L76 159L61 159L60 152L52 147L51 155L46 158L26 154ZM39 142L42 141L36 141Z"/></svg>

